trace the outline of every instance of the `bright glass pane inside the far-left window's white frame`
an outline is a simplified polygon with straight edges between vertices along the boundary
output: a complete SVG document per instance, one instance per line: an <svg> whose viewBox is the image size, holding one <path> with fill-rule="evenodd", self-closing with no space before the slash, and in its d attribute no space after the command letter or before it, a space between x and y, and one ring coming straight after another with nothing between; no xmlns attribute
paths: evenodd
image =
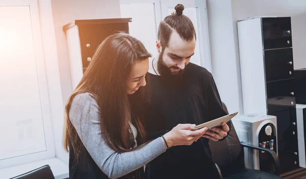
<svg viewBox="0 0 306 179"><path fill-rule="evenodd" d="M46 150L29 6L0 7L0 160ZM18 12L14 14L14 11ZM10 18L5 18L9 16ZM20 22L23 23L20 23ZM3 28L5 27L5 28ZM18 51L18 53L16 53ZM18 72L18 73L16 73Z"/></svg>

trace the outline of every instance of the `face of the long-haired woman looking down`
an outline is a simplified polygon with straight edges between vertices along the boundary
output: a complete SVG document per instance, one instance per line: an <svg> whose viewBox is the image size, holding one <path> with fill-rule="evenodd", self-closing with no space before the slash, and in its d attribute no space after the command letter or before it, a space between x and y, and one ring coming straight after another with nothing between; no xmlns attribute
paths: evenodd
<svg viewBox="0 0 306 179"><path fill-rule="evenodd" d="M126 94L134 94L140 86L145 86L145 75L149 70L149 58L136 60L132 65L132 70L126 80Z"/></svg>

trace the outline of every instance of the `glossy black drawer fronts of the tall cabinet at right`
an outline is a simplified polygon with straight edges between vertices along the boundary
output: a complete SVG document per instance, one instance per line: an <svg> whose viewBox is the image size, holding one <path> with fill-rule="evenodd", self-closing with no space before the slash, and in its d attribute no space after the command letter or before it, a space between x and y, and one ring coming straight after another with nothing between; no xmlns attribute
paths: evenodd
<svg viewBox="0 0 306 179"><path fill-rule="evenodd" d="M267 112L277 117L282 171L298 168L298 142L290 17L262 18Z"/></svg>

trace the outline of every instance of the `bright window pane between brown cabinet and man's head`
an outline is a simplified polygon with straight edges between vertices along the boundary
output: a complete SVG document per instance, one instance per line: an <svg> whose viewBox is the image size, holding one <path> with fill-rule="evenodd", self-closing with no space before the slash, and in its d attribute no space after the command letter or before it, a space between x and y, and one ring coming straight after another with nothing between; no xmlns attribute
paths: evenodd
<svg viewBox="0 0 306 179"><path fill-rule="evenodd" d="M140 40L152 57L156 50L156 19L154 4L120 4L122 18L132 17L129 23L130 35Z"/></svg>

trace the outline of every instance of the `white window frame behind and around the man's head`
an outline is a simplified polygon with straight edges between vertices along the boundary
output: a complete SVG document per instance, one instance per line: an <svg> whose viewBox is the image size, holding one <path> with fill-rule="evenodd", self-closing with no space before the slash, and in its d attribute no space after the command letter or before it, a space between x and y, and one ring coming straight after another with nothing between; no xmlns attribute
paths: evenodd
<svg viewBox="0 0 306 179"><path fill-rule="evenodd" d="M168 15L168 8L174 8L176 4L181 3L185 8L197 8L198 10L198 25L201 50L201 66L205 67L212 73L212 63L210 54L210 42L209 42L209 28L208 28L208 13L206 0L182 0L180 2L174 0L120 0L120 4L143 4L154 3L156 14L156 32L158 32L158 26L161 20ZM133 19L132 19L133 22Z"/></svg>

